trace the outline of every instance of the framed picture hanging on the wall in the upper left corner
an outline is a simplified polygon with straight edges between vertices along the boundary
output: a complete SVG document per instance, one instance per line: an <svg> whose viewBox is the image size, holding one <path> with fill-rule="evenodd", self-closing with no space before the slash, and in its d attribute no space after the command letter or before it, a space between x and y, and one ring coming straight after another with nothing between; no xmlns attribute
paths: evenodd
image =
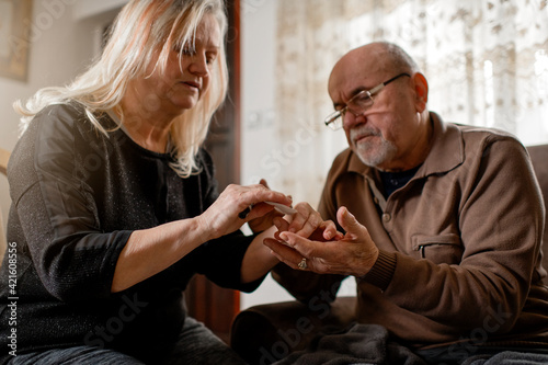
<svg viewBox="0 0 548 365"><path fill-rule="evenodd" d="M32 0L0 0L0 77L26 81Z"/></svg>

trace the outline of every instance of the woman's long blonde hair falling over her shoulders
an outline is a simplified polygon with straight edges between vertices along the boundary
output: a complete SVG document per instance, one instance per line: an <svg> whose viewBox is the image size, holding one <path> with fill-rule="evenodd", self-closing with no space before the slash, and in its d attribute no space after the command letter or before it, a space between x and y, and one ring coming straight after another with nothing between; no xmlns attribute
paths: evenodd
<svg viewBox="0 0 548 365"><path fill-rule="evenodd" d="M22 129L44 107L73 101L84 107L95 128L107 135L99 115L119 105L132 79L147 76L155 53L159 53L155 67L161 72L173 49L180 49L180 56L185 57L184 48L193 47L196 27L205 14L215 16L224 39L227 18L221 0L132 0L117 15L101 57L85 72L69 85L39 90L25 104L15 102L14 109L22 115ZM227 94L224 42L210 72L209 88L197 104L171 125L171 153L175 159L171 167L183 178L198 172L196 155L215 111Z"/></svg>

